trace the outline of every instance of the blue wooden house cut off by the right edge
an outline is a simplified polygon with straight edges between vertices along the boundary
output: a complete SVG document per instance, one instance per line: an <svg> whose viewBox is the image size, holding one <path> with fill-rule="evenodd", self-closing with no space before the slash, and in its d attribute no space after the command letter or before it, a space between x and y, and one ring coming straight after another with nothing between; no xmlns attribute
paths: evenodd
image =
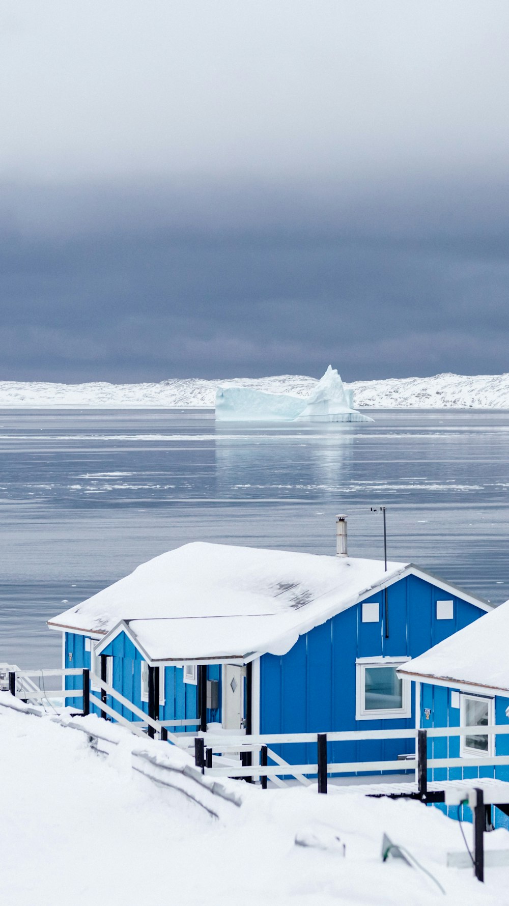
<svg viewBox="0 0 509 906"><path fill-rule="evenodd" d="M508 638L509 602L505 602L475 626L466 626L399 668L402 679L416 684L418 727L466 728L456 737L428 741L428 757L466 762L465 766L429 770L429 780L493 777L509 781L508 765L483 764L484 758L509 756L509 735L469 736L467 730L509 727ZM456 806L450 814L456 817ZM495 809L495 826L509 827L508 817L499 809Z"/></svg>

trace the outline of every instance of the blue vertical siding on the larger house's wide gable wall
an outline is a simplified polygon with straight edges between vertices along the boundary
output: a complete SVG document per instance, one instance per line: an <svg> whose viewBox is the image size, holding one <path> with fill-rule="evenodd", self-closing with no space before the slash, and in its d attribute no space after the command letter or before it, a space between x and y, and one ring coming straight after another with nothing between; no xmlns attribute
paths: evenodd
<svg viewBox="0 0 509 906"><path fill-rule="evenodd" d="M437 620L437 600L451 598L453 619ZM356 719L357 659L417 657L484 613L413 575L389 586L388 621L385 592L370 595L364 602L379 604L378 622L362 622L360 602L305 633L283 657L262 656L262 734L414 728L413 683L410 718ZM328 757L330 762L396 760L400 754L413 752L414 745L413 740L404 739L334 743ZM442 742L436 745L438 750ZM281 746L277 751L293 764L316 761L312 745Z"/></svg>

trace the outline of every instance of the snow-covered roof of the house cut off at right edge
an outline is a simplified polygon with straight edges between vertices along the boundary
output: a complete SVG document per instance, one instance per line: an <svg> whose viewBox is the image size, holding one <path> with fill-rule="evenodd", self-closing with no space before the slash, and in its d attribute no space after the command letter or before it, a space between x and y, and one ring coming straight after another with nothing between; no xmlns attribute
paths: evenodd
<svg viewBox="0 0 509 906"><path fill-rule="evenodd" d="M509 601L408 660L399 673L439 685L509 691Z"/></svg>

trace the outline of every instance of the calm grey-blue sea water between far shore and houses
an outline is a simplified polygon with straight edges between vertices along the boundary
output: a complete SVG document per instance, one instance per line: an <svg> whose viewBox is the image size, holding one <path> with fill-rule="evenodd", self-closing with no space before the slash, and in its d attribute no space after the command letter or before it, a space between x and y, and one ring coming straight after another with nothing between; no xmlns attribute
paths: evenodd
<svg viewBox="0 0 509 906"><path fill-rule="evenodd" d="M509 412L215 424L207 411L0 412L0 661L58 666L49 617L189 541L412 561L509 597Z"/></svg>

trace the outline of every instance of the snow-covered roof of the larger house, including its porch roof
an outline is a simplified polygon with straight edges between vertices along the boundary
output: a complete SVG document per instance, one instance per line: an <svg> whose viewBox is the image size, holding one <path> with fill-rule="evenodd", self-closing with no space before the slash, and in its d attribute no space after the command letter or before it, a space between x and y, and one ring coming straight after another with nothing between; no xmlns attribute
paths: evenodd
<svg viewBox="0 0 509 906"><path fill-rule="evenodd" d="M386 573L379 560L197 542L141 564L48 625L102 635L128 621L151 660L283 653L406 565L389 563Z"/></svg>

